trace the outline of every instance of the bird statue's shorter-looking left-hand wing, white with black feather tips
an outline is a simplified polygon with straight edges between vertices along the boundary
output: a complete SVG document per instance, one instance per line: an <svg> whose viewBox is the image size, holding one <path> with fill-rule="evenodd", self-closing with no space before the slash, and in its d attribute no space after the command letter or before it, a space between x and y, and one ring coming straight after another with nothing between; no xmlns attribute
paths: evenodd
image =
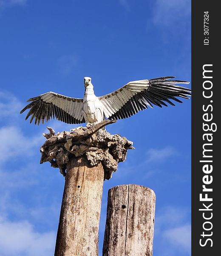
<svg viewBox="0 0 221 256"><path fill-rule="evenodd" d="M40 96L28 99L29 103L20 113L30 108L26 120L31 116L30 123L42 124L52 118L56 118L68 124L84 123L85 119L82 114L83 99L66 97L57 93L48 92Z"/></svg>

